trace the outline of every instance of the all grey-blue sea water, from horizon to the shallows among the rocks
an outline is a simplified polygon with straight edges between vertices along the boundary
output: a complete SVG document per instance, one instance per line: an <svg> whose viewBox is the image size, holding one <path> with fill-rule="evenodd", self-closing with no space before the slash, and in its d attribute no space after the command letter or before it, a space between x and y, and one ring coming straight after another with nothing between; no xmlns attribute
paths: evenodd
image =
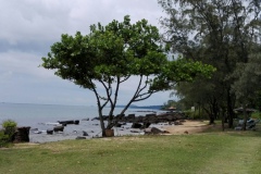
<svg viewBox="0 0 261 174"><path fill-rule="evenodd" d="M114 115L121 113L123 108L115 108ZM103 115L109 114L110 108L103 109ZM128 109L125 115L145 115L159 110ZM27 104L27 103L0 103L0 124L5 120L13 120L17 126L30 127L30 141L46 142L62 139L75 139L83 136L83 132L88 133L87 138L101 136L99 121L91 119L98 117L97 107L86 105L57 105L57 104ZM89 119L89 121L86 121ZM78 125L67 125L64 132L47 135L47 129L52 129L58 121L78 120ZM0 125L1 128L1 125ZM130 134L130 124L124 128L114 128L116 135Z"/></svg>

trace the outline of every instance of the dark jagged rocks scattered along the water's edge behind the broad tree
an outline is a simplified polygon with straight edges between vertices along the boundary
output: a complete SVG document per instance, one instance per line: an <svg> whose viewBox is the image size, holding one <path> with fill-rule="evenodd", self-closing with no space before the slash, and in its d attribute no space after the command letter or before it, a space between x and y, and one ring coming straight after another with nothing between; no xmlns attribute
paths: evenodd
<svg viewBox="0 0 261 174"><path fill-rule="evenodd" d="M179 113L179 112L165 112L162 114L156 114L156 113L151 113L151 114L146 114L146 115L139 115L136 116L135 114L119 114L113 116L113 121L112 121L112 127L121 127L120 130L124 130L124 129L130 129L130 133L144 133L145 135L151 135L151 134L166 134L167 132L165 130L161 130L159 128L156 127L151 127L151 124L156 124L156 125L171 125L171 124L182 124L182 120L185 120L186 116L184 113ZM95 121L98 120L99 117L94 117L92 120L90 119L83 119L82 121ZM109 116L104 115L103 116L104 121L109 121ZM130 123L130 125L129 125ZM78 120L69 120L69 121L58 121L57 123L48 123L48 125L53 125L53 127L51 129L47 129L46 133L48 135L52 135L54 133L63 133L64 128L66 125L69 124L75 124L78 125L79 121ZM92 125L97 125L99 126L98 123L94 123ZM110 134L108 133L108 136L114 136L113 133L113 128L111 129L109 128L108 130L110 130ZM74 130L76 133L76 135L79 135L83 130L80 130L80 133L77 133L77 130ZM41 134L41 132L37 130L34 132L36 134ZM91 130L91 133L94 133ZM83 132L83 134L80 136L77 136L76 139L86 139L86 137L89 136L87 132ZM97 136L97 135L96 135ZM94 137L94 136L92 136Z"/></svg>

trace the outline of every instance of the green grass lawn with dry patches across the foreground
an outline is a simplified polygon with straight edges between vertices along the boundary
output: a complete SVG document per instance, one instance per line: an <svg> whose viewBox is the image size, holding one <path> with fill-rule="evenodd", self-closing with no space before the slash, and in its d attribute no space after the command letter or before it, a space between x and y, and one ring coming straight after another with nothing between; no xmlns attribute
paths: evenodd
<svg viewBox="0 0 261 174"><path fill-rule="evenodd" d="M114 137L0 149L3 174L260 174L261 132Z"/></svg>

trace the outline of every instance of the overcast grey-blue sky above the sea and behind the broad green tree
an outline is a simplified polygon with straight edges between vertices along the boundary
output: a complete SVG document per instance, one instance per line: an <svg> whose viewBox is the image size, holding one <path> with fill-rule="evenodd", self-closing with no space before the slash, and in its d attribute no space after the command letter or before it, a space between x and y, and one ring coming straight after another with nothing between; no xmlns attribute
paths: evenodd
<svg viewBox="0 0 261 174"><path fill-rule="evenodd" d="M95 95L39 67L62 34L89 33L89 26L130 15L158 26L164 15L157 0L0 0L0 102L96 105ZM137 80L125 83L119 104L126 104ZM170 91L136 105L163 104Z"/></svg>

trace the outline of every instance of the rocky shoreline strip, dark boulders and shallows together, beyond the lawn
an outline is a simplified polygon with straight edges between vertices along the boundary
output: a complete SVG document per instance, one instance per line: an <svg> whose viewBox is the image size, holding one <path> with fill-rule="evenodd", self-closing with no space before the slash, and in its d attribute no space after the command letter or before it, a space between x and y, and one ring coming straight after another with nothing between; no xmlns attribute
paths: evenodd
<svg viewBox="0 0 261 174"><path fill-rule="evenodd" d="M109 116L103 116L105 123ZM179 125L186 116L178 112L166 112L163 114L135 114L116 115L113 119L114 136L165 134L163 127ZM61 129L58 129L61 128ZM52 130L52 133L50 133ZM29 130L30 142L49 142L64 139L89 139L101 137L99 117L83 119L74 121L58 121L55 123L39 124L39 127L32 127Z"/></svg>

